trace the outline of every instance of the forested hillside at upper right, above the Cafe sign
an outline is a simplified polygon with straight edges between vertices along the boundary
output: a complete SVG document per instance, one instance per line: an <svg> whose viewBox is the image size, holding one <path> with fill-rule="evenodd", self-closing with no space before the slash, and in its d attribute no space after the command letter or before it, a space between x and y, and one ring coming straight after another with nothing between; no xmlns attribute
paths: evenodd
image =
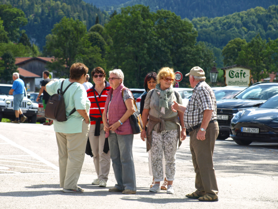
<svg viewBox="0 0 278 209"><path fill-rule="evenodd" d="M192 23L198 31L198 41L206 41L220 49L229 40L239 37L249 42L258 33L262 39L273 40L278 38L278 6L256 7L224 17L196 18Z"/></svg>

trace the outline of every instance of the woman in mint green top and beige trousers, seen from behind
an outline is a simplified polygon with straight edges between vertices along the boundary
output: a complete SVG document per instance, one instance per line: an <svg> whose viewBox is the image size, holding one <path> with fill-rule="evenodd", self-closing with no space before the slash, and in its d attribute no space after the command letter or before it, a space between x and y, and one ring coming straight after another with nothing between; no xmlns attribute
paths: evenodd
<svg viewBox="0 0 278 209"><path fill-rule="evenodd" d="M85 157L85 148L89 134L89 108L90 101L82 84L86 79L88 68L82 63L74 63L70 67L70 78L50 81L45 91L50 95L71 85L64 94L66 115L75 108L64 122L54 121L54 131L59 152L60 187L63 192L82 193L84 190L77 186L81 168Z"/></svg>

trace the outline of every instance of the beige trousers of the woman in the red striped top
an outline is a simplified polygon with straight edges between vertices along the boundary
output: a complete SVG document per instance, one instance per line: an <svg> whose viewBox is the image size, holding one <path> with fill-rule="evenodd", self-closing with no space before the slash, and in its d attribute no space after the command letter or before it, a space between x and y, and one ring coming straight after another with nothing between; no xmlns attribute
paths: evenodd
<svg viewBox="0 0 278 209"><path fill-rule="evenodd" d="M103 151L105 142L105 132L103 130L103 123L101 124L101 135L98 137L95 136L95 128L96 125L91 125L89 131L91 152L92 155L94 155L94 164L98 175L98 179L107 182L111 164L110 151L108 151L107 154Z"/></svg>

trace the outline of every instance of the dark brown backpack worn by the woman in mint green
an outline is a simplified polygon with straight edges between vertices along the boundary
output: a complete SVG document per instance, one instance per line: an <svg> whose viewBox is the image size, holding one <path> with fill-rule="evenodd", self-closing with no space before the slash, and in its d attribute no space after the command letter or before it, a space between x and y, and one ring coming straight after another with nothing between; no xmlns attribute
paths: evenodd
<svg viewBox="0 0 278 209"><path fill-rule="evenodd" d="M59 122L67 121L68 117L76 111L76 109L74 108L68 116L66 115L66 105L63 95L74 82L70 83L70 85L67 86L67 88L63 92L64 81L65 80L62 81L61 89L57 90L57 94L50 96L48 100L47 107L44 111L44 117L46 117L47 119Z"/></svg>

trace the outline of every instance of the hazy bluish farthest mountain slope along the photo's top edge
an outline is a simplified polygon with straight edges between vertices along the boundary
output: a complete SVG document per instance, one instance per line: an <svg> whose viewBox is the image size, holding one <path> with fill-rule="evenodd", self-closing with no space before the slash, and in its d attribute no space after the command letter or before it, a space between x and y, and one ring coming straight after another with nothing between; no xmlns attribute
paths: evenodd
<svg viewBox="0 0 278 209"><path fill-rule="evenodd" d="M99 2L100 0L85 1ZM119 0L110 0L111 5L114 2L119 2ZM161 9L170 10L176 15L180 15L182 19L188 18L192 20L198 17L221 17L255 7L268 8L271 5L278 5L278 0L132 0L117 6L103 7L103 9L110 12L117 10L119 13L122 7L138 4L150 6L150 10L153 12Z"/></svg>

